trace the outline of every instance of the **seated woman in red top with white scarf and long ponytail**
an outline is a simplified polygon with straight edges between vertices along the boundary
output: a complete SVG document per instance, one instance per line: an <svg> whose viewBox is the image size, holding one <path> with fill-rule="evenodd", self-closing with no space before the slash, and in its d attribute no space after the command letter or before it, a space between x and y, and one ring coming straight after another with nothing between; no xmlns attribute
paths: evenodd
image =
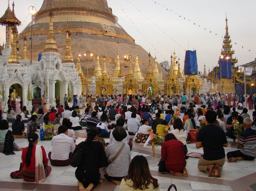
<svg viewBox="0 0 256 191"><path fill-rule="evenodd" d="M51 167L48 166L49 159L46 156L45 148L37 145L38 134L28 134L28 147L22 151L22 178L27 182L45 181L46 177L51 172ZM42 158L41 158L42 156Z"/></svg>

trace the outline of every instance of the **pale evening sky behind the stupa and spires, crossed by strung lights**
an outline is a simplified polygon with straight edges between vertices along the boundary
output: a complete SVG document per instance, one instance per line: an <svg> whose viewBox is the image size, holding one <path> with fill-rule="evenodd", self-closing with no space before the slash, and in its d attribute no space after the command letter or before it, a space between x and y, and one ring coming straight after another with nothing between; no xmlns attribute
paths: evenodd
<svg viewBox="0 0 256 191"><path fill-rule="evenodd" d="M12 3L11 0L10 5ZM18 31L21 32L31 22L28 7L35 6L38 11L43 0L15 0L14 3L15 15L22 22L18 27ZM8 1L1 0L1 5L0 15L2 16ZM226 26L226 12L229 35L235 51L234 57L238 58L238 65L251 62L256 58L256 18L254 16L256 1L254 0L108 0L108 5L112 8L113 14L118 17L118 23L135 39L136 44L141 45L146 51L150 49L152 56L156 52L158 62L164 60L170 62L171 52L175 49L177 58L180 56L183 70L185 49L188 49L189 42L189 50L197 50L198 70L203 72L204 63L207 72L209 67L211 70L217 65L220 56L223 42L221 36L224 36ZM2 45L3 42L5 42L5 26L0 26L0 44Z"/></svg>

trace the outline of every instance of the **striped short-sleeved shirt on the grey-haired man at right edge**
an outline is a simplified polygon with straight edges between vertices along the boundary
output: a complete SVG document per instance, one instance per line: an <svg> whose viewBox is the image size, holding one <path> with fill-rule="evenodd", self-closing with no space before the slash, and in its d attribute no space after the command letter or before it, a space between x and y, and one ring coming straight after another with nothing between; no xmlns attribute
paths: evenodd
<svg viewBox="0 0 256 191"><path fill-rule="evenodd" d="M240 135L239 144L243 145L241 153L256 157L256 130L252 128L245 129Z"/></svg>

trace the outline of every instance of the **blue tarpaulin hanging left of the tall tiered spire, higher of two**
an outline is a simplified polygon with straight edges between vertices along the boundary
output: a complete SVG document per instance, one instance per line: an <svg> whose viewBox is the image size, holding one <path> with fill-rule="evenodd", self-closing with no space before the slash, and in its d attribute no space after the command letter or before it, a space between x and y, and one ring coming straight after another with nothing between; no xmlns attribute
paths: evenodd
<svg viewBox="0 0 256 191"><path fill-rule="evenodd" d="M196 75L197 74L196 50L194 50L194 51L187 50L186 51L184 74L185 75L191 75L191 74Z"/></svg>

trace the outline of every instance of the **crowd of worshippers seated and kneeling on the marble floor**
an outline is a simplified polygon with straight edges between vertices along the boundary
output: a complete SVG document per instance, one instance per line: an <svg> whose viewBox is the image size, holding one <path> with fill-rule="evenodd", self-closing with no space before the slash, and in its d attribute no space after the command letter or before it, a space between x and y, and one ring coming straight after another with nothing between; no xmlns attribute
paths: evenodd
<svg viewBox="0 0 256 191"><path fill-rule="evenodd" d="M13 151L22 151L21 171L11 174L12 178L23 178L28 182L41 182L51 172L48 166L68 166L72 156L79 150L83 151L82 162L77 167L75 176L79 181L79 190L91 190L100 182L100 171L104 171L106 180L120 185L120 190L159 190L157 179L150 174L148 162L144 156L135 156L131 159L132 142L145 143L150 132L164 138L161 148L161 157L165 161L166 169L176 176L188 176L186 159L189 141L189 131L200 129L196 138L196 148L203 147L204 154L198 160L198 170L209 171L208 176L220 177L221 170L226 160L223 147L228 146L227 138L236 141L233 121L237 120L242 125L243 132L240 135L239 150L227 153L228 162L238 160L254 160L256 157L256 130L251 128L253 124L247 108L243 108L240 114L234 107L224 105L217 106L216 110L209 104L205 105L190 103L184 111L183 119L172 120L174 110L172 105L165 102L159 105L131 105L116 107L96 105L92 111L87 106L80 115L79 106L65 107L60 112L54 107L44 114L42 108L34 108L31 117L23 108L23 112L16 116L12 110L8 111L8 121L12 122L12 131L8 130L7 120L1 121L0 128L0 151L4 154L14 154ZM253 120L256 118L253 113ZM231 112L232 111L232 112ZM117 115L120 114L120 115ZM155 117L153 117L155 114ZM118 119L116 120L116 116ZM61 123L61 118L63 118ZM200 121L205 119L206 126L201 127ZM116 124L110 124L115 121ZM25 132L27 123L27 132ZM124 124L127 124L124 127ZM47 154L43 146L37 146L40 129L44 132L41 140L51 140L51 152ZM55 130L57 130L55 134ZM86 130L87 138L84 142L76 145L75 130ZM40 134L41 135L41 134ZM6 139L8 137L8 139ZM29 145L19 148L14 142L16 138L27 138ZM105 143L104 138L109 138ZM42 153L42 158L40 157ZM90 155L88 155L90 153ZM175 156L175 157L174 157ZM41 164L39 168L37 165ZM40 165L39 165L40 166ZM137 169L135 172L134 169ZM38 177L37 173L42 176Z"/></svg>

